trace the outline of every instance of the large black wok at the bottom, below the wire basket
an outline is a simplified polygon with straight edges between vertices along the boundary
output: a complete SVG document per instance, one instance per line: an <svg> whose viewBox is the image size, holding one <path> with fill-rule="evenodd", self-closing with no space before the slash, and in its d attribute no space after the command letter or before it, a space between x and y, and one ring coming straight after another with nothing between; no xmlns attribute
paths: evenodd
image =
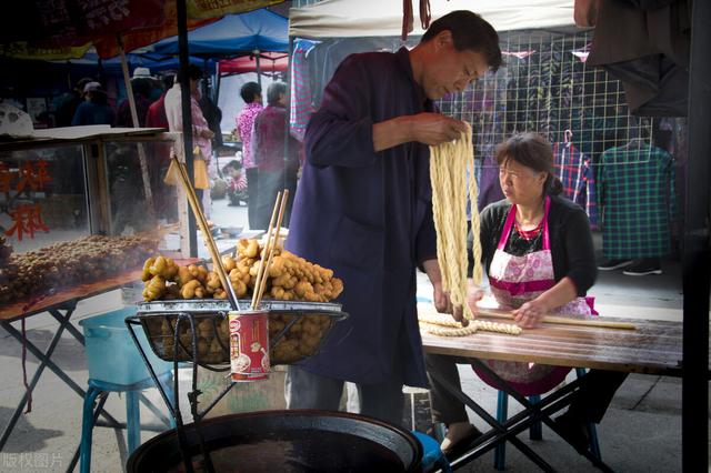
<svg viewBox="0 0 711 473"><path fill-rule="evenodd" d="M263 411L202 421L214 471L415 472L422 446L408 431L360 415L327 411ZM194 424L184 426L196 472L207 471ZM129 473L186 471L177 431L133 452Z"/></svg>

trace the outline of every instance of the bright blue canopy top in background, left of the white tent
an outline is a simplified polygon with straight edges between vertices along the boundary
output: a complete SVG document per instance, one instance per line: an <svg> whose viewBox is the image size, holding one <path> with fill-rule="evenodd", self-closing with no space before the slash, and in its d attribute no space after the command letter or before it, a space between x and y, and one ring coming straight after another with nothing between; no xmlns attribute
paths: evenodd
<svg viewBox="0 0 711 473"><path fill-rule="evenodd" d="M289 50L287 30L287 19L267 9L228 14L214 23L192 30L188 36L188 48L191 54L211 57L231 57L240 51L254 50L286 52ZM148 49L161 54L177 54L178 37L166 38Z"/></svg>

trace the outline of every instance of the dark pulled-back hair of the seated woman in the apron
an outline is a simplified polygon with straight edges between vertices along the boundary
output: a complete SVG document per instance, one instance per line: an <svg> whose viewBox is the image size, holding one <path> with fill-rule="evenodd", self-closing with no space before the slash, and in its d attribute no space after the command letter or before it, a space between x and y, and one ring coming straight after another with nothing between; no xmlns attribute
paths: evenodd
<svg viewBox="0 0 711 473"><path fill-rule="evenodd" d="M538 133L515 133L497 147L497 163L505 165L508 161L548 173L543 192L547 195L558 195L563 191L563 184L554 174L554 160L551 143Z"/></svg>

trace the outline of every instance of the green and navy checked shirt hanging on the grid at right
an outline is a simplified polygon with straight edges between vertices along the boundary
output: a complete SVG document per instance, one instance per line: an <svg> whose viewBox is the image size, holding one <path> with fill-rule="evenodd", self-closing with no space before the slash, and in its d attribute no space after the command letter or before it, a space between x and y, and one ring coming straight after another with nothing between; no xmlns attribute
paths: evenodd
<svg viewBox="0 0 711 473"><path fill-rule="evenodd" d="M602 153L600 167L604 256L628 260L669 254L675 205L671 154L649 144L629 144Z"/></svg>

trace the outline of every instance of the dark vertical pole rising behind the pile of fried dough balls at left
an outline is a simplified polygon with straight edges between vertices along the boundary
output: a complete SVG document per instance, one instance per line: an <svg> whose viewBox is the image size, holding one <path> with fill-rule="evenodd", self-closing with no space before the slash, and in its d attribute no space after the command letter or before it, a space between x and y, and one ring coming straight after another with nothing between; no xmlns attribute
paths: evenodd
<svg viewBox="0 0 711 473"><path fill-rule="evenodd" d="M176 2L178 10L178 52L180 59L180 72L183 80L180 82L180 98L182 101L182 140L183 152L186 154L186 168L188 169L188 178L194 184L193 163L192 163L192 112L190 107L190 79L188 78L188 69L190 66L190 53L188 51L188 8L186 0ZM192 212L188 212L188 235L190 239L190 255L198 255L198 232L196 218Z"/></svg>

